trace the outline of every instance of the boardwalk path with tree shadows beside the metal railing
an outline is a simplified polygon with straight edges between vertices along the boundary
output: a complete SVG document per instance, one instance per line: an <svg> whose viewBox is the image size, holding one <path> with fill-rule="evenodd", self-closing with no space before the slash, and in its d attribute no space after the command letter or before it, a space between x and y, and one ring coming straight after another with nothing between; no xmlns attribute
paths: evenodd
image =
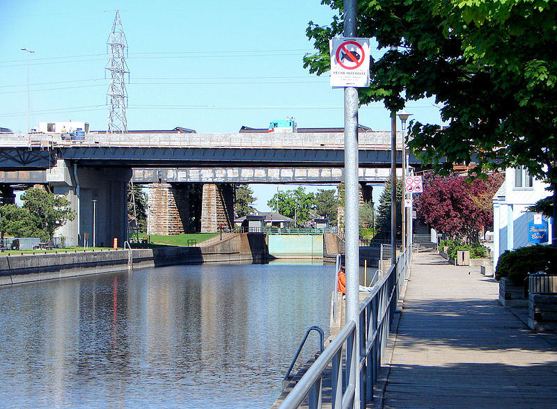
<svg viewBox="0 0 557 409"><path fill-rule="evenodd" d="M417 253L384 408L557 408L557 335L497 302L499 284ZM386 357L387 358L387 357Z"/></svg>

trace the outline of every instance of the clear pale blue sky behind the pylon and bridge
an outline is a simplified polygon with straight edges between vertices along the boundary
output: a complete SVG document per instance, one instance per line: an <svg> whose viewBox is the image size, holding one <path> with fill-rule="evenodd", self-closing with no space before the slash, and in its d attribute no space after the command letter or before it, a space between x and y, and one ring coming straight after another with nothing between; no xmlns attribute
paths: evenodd
<svg viewBox="0 0 557 409"><path fill-rule="evenodd" d="M21 49L28 48L35 51L29 55L31 127L84 120L92 130L107 129L107 39L117 9L129 46L128 129L236 132L286 116L299 127L343 126L343 91L302 66L313 49L308 22L331 19L319 0L0 0L0 127L26 131ZM407 111L423 122L439 121L430 101ZM382 104L362 107L359 122L390 127ZM276 186L257 189L256 207L266 210L267 192Z"/></svg>

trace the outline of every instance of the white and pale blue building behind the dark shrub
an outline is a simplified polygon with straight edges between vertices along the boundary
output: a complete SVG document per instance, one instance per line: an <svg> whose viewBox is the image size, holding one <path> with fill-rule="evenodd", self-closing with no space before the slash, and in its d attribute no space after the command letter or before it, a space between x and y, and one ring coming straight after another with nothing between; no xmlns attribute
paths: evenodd
<svg viewBox="0 0 557 409"><path fill-rule="evenodd" d="M505 250L528 246L528 223L534 214L526 207L535 205L538 200L547 198L551 192L546 191L548 184L532 177L524 168L505 170L505 182L493 198L493 262ZM551 243L551 223L548 232Z"/></svg>

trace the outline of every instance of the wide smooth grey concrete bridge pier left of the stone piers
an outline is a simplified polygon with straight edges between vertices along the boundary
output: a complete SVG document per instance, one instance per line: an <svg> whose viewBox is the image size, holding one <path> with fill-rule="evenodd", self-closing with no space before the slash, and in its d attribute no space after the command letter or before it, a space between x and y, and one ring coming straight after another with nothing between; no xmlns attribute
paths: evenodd
<svg viewBox="0 0 557 409"><path fill-rule="evenodd" d="M54 193L67 195L76 218L56 230L56 236L65 236L69 246L84 246L86 235L88 246L93 246L93 239L97 246L112 246L117 238L121 247L127 240L127 183L132 170L57 168L59 175L50 177L49 184Z"/></svg>

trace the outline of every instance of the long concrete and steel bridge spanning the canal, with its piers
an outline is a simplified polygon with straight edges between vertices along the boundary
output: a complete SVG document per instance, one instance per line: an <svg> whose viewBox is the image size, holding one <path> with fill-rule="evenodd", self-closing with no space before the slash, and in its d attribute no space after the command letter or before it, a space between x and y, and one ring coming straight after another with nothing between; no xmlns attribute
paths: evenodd
<svg viewBox="0 0 557 409"><path fill-rule="evenodd" d="M93 224L97 244L126 239L127 183L132 175L134 182L152 184L152 205L160 217L150 221L166 227L157 231L163 234L189 229L191 184L203 184L201 230L216 231L233 223L230 184L343 181L344 134L338 132L87 134L79 141L64 137L3 135L0 189L3 202L13 200L12 186L17 184L49 184L54 193L68 195L77 218L58 234L73 243L92 236ZM391 133L360 132L359 163L361 183L384 181L391 166ZM410 163L418 166L414 156Z"/></svg>

